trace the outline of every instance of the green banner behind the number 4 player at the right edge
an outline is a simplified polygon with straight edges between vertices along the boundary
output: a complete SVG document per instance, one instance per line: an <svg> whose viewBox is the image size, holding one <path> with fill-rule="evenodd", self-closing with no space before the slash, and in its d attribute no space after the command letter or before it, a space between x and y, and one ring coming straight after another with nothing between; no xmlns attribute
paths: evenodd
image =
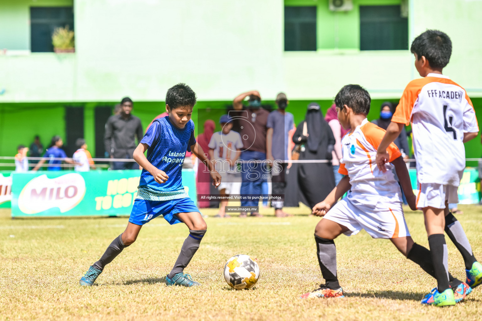
<svg viewBox="0 0 482 321"><path fill-rule="evenodd" d="M409 170L410 180L415 195L418 193L417 171L415 168ZM476 168L467 167L460 180L458 187L459 204L477 204L481 200L481 183L479 180L479 172Z"/></svg>

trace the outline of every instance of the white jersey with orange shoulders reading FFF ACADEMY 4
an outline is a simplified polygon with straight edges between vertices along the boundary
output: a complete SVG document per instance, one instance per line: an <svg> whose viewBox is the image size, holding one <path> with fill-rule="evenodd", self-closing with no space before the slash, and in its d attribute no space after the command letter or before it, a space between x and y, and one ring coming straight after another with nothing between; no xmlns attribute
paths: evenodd
<svg viewBox="0 0 482 321"><path fill-rule="evenodd" d="M392 121L412 122L419 183L458 186L465 168L464 133L477 132L466 91L440 74L408 83Z"/></svg>

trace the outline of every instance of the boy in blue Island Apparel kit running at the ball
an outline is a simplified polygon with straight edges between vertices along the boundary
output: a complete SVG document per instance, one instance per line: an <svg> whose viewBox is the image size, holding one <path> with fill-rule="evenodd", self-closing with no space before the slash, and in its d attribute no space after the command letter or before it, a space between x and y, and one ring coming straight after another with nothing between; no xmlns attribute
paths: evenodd
<svg viewBox="0 0 482 321"><path fill-rule="evenodd" d="M80 285L93 285L104 267L117 257L124 247L134 243L141 227L159 215L171 225L183 222L189 228L189 235L182 245L173 270L166 276L166 284L201 285L183 272L198 250L207 229L198 207L187 196L182 185L181 169L186 151L192 151L206 164L216 187L221 182L221 176L194 138L191 115L195 104L196 94L186 84L179 83L167 91L166 111L169 115L152 123L134 151L134 160L143 170L127 228L89 268L80 279ZM144 155L146 150L147 158Z"/></svg>

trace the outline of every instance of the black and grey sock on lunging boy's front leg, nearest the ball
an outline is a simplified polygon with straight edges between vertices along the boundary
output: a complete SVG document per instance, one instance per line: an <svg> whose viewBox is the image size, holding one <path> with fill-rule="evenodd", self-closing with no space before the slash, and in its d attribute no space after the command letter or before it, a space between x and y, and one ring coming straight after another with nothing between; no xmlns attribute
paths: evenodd
<svg viewBox="0 0 482 321"><path fill-rule="evenodd" d="M336 277L335 241L323 239L315 234L315 242L318 263L320 264L321 275L323 275L323 279L325 279L325 286L332 290L339 289L340 284Z"/></svg>

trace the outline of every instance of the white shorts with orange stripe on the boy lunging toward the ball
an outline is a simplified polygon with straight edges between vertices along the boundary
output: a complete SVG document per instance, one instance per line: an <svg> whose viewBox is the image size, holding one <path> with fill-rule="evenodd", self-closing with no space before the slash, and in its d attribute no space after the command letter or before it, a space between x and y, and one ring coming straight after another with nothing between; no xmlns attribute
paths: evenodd
<svg viewBox="0 0 482 321"><path fill-rule="evenodd" d="M346 226L349 231L344 234L348 236L361 230L367 231L374 239L410 236L400 203L368 205L345 197L324 218Z"/></svg>

